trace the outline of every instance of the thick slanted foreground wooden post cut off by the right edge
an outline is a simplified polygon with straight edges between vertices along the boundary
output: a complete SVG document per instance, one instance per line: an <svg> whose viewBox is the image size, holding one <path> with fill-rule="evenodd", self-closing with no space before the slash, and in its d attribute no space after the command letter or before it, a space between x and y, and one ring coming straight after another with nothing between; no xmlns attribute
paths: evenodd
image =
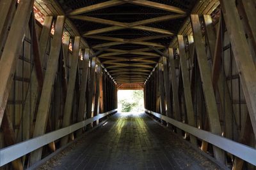
<svg viewBox="0 0 256 170"><path fill-rule="evenodd" d="M230 43L234 52L237 70L244 91L244 97L250 113L253 132L256 135L256 67L250 47L246 41L243 25L237 12L235 1L220 1Z"/></svg>

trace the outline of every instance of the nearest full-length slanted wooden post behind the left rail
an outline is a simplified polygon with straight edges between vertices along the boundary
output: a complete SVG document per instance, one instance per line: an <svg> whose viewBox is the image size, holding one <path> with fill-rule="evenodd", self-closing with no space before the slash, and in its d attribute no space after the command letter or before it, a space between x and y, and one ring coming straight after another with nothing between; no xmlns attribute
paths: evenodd
<svg viewBox="0 0 256 170"><path fill-rule="evenodd" d="M58 70L58 59L60 55L61 39L63 35L64 24L65 17L58 16L55 25L54 37L52 39L51 44L51 52L49 55L49 60L47 61L47 69L45 72L44 85L42 88L42 94L38 106L38 113L36 115L36 124L33 137L40 136L45 133L49 108L51 105L51 96L54 79ZM39 148L38 150L31 152L30 164L35 164L35 162L41 159L41 156L42 148Z"/></svg>

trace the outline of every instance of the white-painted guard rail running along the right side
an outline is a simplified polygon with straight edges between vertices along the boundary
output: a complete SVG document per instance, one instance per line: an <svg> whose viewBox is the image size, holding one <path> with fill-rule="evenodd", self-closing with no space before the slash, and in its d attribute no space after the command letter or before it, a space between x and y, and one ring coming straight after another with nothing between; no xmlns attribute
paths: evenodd
<svg viewBox="0 0 256 170"><path fill-rule="evenodd" d="M250 164L253 164L254 166L256 166L256 149L255 148L243 145L241 143L237 143L236 141L232 141L230 139L224 138L222 136L218 136L216 134L212 134L211 132L207 132L202 129L192 127L191 125L184 124L182 122L174 120L173 118L163 116L154 111L150 111L146 109L145 111L147 113L150 113L151 115L154 115L155 117L161 118L165 122L168 122L174 125L175 127L178 127L179 129L182 129L185 132L188 132L189 134L192 134L193 136L196 136L197 138L203 139L204 141L207 141L208 143L211 143L212 145L215 145L218 148L221 148L222 150L225 150L226 152L231 153L232 155L236 155L236 157L239 157L245 160L246 162L249 162Z"/></svg>

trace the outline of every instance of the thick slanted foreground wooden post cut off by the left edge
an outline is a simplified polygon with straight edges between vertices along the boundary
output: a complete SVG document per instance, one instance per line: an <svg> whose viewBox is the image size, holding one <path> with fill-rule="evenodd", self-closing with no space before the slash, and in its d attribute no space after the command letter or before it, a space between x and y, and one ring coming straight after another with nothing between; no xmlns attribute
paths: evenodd
<svg viewBox="0 0 256 170"><path fill-rule="evenodd" d="M24 29L20 29L20 27L24 28L28 25L33 3L33 0L21 1L19 3L0 60L0 125L3 120L10 89L12 88L17 59L22 48L20 44L22 44L24 38Z"/></svg>

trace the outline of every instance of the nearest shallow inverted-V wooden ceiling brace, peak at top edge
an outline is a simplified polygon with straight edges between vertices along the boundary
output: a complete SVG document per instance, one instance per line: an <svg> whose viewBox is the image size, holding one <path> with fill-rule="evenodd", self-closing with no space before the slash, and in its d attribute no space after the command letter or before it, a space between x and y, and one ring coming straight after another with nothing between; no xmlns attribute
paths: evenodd
<svg viewBox="0 0 256 170"><path fill-rule="evenodd" d="M106 1L104 3L93 4L91 6L85 6L83 8L76 9L68 13L68 15L78 15L81 13L101 10L104 8L109 8L111 6L118 6L120 4L125 4L125 3L131 3L131 4L140 5L140 6L147 6L150 8L157 8L159 10L171 11L174 13L186 14L186 11L182 10L181 8L177 8L175 6L170 6L167 4L155 3L147 0L111 0L111 1Z"/></svg>

